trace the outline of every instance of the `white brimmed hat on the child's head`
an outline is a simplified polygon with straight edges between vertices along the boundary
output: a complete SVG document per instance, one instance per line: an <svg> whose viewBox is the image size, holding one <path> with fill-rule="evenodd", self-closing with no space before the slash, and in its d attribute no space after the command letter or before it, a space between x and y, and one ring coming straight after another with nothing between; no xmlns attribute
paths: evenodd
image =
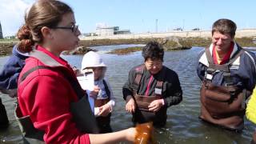
<svg viewBox="0 0 256 144"><path fill-rule="evenodd" d="M94 51L89 51L82 58L81 70L89 67L106 67L106 65L99 54Z"/></svg>

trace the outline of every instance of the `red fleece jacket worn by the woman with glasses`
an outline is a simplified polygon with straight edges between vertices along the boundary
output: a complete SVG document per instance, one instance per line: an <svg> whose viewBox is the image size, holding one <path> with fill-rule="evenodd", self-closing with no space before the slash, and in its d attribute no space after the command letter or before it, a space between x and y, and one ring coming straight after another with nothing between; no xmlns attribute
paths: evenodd
<svg viewBox="0 0 256 144"><path fill-rule="evenodd" d="M76 78L65 60L54 56L40 46L38 50L62 64L55 67L56 69L68 71ZM27 58L20 76L34 66L46 65L36 58ZM45 131L46 143L90 143L89 135L82 134L72 121L70 102L77 102L78 97L70 82L59 70L36 70L18 85L18 103L22 115L30 115L34 127Z"/></svg>

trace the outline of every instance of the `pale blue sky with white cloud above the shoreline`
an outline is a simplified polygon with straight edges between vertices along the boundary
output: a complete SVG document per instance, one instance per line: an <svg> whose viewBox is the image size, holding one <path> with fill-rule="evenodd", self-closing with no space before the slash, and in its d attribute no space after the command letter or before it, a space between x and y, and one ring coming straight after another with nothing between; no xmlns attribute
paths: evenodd
<svg viewBox="0 0 256 144"><path fill-rule="evenodd" d="M4 36L14 35L24 23L32 0L0 0ZM82 33L94 32L96 23L120 26L132 33L170 31L177 27L210 30L218 18L230 18L238 29L256 28L255 0L63 0L73 9Z"/></svg>

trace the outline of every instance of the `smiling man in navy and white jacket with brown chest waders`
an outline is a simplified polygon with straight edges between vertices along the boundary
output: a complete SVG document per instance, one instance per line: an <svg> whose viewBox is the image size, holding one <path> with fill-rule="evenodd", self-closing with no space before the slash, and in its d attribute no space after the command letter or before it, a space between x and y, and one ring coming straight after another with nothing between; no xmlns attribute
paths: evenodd
<svg viewBox="0 0 256 144"><path fill-rule="evenodd" d="M218 19L212 44L199 55L201 118L228 130L241 131L246 99L256 83L255 55L234 42L236 24Z"/></svg>

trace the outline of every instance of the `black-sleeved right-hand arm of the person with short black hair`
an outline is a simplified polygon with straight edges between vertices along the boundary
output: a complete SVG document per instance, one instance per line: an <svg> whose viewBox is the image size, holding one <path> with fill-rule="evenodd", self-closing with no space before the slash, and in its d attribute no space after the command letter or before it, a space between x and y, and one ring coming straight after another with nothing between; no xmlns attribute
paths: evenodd
<svg viewBox="0 0 256 144"><path fill-rule="evenodd" d="M164 106L177 105L179 102L182 102L182 87L180 85L178 74L171 74L170 82L166 82L166 95L164 96Z"/></svg>

